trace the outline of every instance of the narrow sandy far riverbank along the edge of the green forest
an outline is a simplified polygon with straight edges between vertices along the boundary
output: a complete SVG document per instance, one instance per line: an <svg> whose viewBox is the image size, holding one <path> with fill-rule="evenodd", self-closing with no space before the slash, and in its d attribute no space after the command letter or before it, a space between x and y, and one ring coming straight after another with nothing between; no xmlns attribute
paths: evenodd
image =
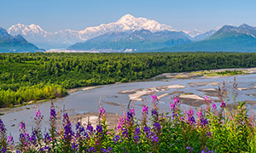
<svg viewBox="0 0 256 153"><path fill-rule="evenodd" d="M162 74L157 75L155 77L151 77L151 78L148 78L148 79L137 80L137 81L131 81L131 82L148 82L148 81L158 81L158 80L171 79L171 78L173 78L173 79L192 79L192 78L196 78L196 77L201 77L202 79L208 79L208 78L231 77L230 75L218 75L218 76L214 76L214 77L206 77L206 76L203 76L204 74L202 74L203 72L210 72L210 73L213 72L213 73L215 73L215 72L220 72L220 71L242 71L242 72L245 73L245 74L231 75L231 76L240 76L240 75L249 75L249 74L256 73L256 67L162 73ZM106 85L113 85L113 84L119 84L119 83L129 83L129 82L115 82L115 83L112 83L112 84L87 86L87 87L79 87L79 88L70 88L70 89L67 89L67 95L73 94L73 93L78 92L78 91L85 91L85 90L91 90L91 89L95 89L95 88L102 88L103 86L106 86ZM50 101L50 100L62 99L62 98L65 98L67 95L65 95L61 98L55 98L55 99L31 100L31 101L28 101L28 102L24 102L20 105L14 105L13 107L0 108L0 111L8 111L9 109L19 108L19 107L26 106L26 105L34 105L34 104L38 104L38 103L47 102L47 101ZM3 116L3 115L4 115L4 112L3 113L1 112L0 116Z"/></svg>

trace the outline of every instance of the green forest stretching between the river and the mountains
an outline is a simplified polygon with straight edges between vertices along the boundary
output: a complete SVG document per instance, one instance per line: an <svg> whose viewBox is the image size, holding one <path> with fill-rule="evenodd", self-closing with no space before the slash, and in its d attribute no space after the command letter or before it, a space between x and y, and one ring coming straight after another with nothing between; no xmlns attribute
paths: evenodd
<svg viewBox="0 0 256 153"><path fill-rule="evenodd" d="M53 99L66 89L130 82L161 73L256 67L253 53L3 53L0 107Z"/></svg>

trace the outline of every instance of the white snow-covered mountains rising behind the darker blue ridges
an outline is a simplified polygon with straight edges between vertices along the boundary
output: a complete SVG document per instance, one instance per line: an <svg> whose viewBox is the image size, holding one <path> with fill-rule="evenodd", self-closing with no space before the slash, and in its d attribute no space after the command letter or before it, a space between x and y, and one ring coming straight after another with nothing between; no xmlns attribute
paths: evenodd
<svg viewBox="0 0 256 153"><path fill-rule="evenodd" d="M16 24L10 26L8 32L10 35L21 34L29 42L36 44L39 48L67 48L68 46L76 42L84 42L93 37L98 37L108 32L131 32L148 30L151 32L156 31L177 31L172 26L160 24L155 20L148 20L146 18L136 18L131 14L125 14L118 21L102 24L100 26L87 27L82 31L73 31L70 29L64 31L49 32L44 31L40 26L37 25L22 25ZM203 31L183 31L188 34L190 39L193 37L200 37L205 35ZM195 39L195 40L201 40Z"/></svg>

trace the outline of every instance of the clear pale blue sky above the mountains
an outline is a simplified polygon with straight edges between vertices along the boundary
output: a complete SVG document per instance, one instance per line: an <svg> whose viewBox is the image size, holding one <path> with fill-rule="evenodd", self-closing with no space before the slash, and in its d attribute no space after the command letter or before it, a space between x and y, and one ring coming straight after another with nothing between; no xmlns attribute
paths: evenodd
<svg viewBox="0 0 256 153"><path fill-rule="evenodd" d="M125 14L157 20L177 30L256 26L253 0L1 0L0 27L17 23L45 31L83 30L119 20Z"/></svg>

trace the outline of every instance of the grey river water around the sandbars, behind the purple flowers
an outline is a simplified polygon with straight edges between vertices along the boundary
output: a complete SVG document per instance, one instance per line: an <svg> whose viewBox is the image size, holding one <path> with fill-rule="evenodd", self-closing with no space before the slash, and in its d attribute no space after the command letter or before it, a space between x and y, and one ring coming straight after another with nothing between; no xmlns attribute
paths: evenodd
<svg viewBox="0 0 256 153"><path fill-rule="evenodd" d="M239 100L250 100L254 101L255 97L252 94L256 93L256 88L253 88L256 85L256 74L250 75L242 75L236 77L236 82L238 83L238 88L250 88L247 90L239 91L238 97L236 101ZM199 96L204 96L204 94L199 91L201 89L206 88L218 88L218 86L214 86L211 84L206 84L203 86L191 86L189 83L193 82L226 82L227 91L231 91L233 85L234 77L220 77L220 78L193 78L193 79L161 79L161 80L151 80L147 82L127 82L127 83L118 83L111 85L99 86L98 88L93 88L90 90L78 91L73 94L69 94L64 98L55 99L54 104L56 106L57 111L65 110L69 115L83 114L86 112L97 112L98 111L98 102L101 99L102 106L108 113L117 113L118 115L122 115L122 107L120 104L124 105L125 109L130 101L129 94L119 94L120 91L131 90L135 88L155 88L166 85L183 85L185 88L171 88L166 91L156 92L154 94L167 94L183 91L184 93L193 93ZM172 95L167 95L160 99L160 111L170 111L170 97ZM231 97L231 96L230 96ZM142 97L145 101L148 101L148 105L151 105L151 96L144 95ZM256 101L256 100L255 100ZM109 103L111 102L111 103ZM231 98L228 99L227 104L232 104L233 100ZM44 116L42 128L43 131L48 131L49 125L49 107L51 102L47 101L44 103L39 103L38 107ZM112 105L115 104L115 105ZM133 101L133 106L136 112L136 116L141 116L142 111L142 101ZM219 107L220 103L216 103ZM5 111L3 116L0 116L8 129L8 133L12 133L15 137L15 140L19 137L19 123L21 121L26 123L26 129L31 132L32 126L34 126L34 116L37 105L26 105L18 108L12 108ZM150 107L150 106L149 106ZM189 105L181 105L183 109L189 109ZM200 107L203 107L201 105ZM192 107L195 109L195 107ZM250 110L256 109L256 105L247 104L247 108Z"/></svg>

